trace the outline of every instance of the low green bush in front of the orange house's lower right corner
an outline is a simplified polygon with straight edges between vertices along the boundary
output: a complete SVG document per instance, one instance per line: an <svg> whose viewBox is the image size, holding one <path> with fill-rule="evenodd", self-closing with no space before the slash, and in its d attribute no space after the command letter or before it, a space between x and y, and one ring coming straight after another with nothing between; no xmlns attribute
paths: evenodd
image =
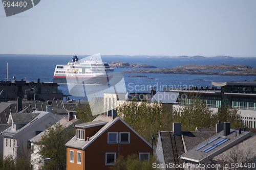
<svg viewBox="0 0 256 170"><path fill-rule="evenodd" d="M158 169L153 168L153 163L159 164L156 156L151 157L150 161L144 160L142 162L139 161L139 156L136 154L129 155L127 158L124 158L122 155L116 160L114 166L112 166L111 170L150 170L150 169Z"/></svg>

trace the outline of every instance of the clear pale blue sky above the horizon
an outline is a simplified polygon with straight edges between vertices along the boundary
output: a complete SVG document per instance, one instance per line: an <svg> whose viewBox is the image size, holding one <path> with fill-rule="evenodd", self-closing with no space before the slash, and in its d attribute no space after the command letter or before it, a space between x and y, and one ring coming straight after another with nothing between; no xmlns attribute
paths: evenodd
<svg viewBox="0 0 256 170"><path fill-rule="evenodd" d="M254 0L41 0L6 17L0 54L256 57Z"/></svg>

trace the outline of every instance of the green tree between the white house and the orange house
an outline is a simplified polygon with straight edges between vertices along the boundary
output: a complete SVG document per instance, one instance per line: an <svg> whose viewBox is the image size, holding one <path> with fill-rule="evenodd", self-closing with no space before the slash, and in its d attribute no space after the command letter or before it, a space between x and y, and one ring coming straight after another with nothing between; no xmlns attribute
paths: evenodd
<svg viewBox="0 0 256 170"><path fill-rule="evenodd" d="M41 158L51 158L46 163L46 169L66 169L65 144L74 137L75 128L70 126L63 128L59 123L47 128L39 144Z"/></svg>

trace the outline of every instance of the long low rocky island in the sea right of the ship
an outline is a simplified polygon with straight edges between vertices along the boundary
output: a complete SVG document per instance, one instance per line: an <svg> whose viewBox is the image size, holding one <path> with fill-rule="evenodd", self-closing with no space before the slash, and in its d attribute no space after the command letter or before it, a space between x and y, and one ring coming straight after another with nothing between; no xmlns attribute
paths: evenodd
<svg viewBox="0 0 256 170"><path fill-rule="evenodd" d="M216 72L225 71L225 72ZM256 68L246 65L197 65L188 64L172 68L157 69L133 69L124 73L147 73L147 74L186 74L186 75L220 75L220 76L256 76Z"/></svg>

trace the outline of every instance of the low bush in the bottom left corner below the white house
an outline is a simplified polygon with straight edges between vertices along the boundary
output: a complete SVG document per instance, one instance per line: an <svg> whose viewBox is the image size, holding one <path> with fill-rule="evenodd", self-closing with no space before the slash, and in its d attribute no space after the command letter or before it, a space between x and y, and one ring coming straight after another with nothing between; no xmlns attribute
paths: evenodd
<svg viewBox="0 0 256 170"><path fill-rule="evenodd" d="M13 159L12 156L1 158L0 170L32 170L33 167L27 159Z"/></svg>

